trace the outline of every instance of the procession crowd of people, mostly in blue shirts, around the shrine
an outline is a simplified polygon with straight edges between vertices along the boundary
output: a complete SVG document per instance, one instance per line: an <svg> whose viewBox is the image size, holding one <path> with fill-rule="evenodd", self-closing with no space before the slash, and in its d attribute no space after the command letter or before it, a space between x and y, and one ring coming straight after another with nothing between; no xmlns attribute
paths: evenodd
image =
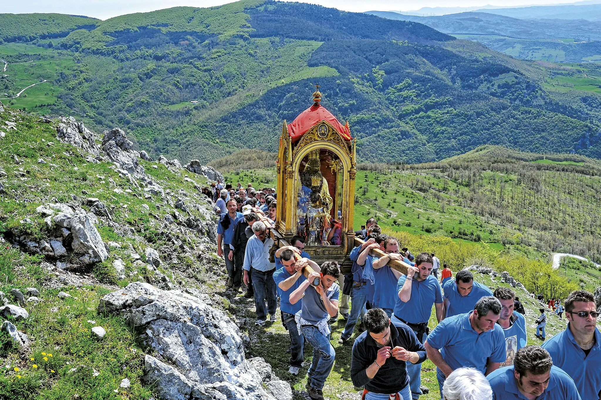
<svg viewBox="0 0 601 400"><path fill-rule="evenodd" d="M302 237L274 249L269 229L276 218L275 191L238 186L236 192L230 184L215 185L218 255L225 258L227 286L248 287L245 297L254 297L258 327L278 319L279 298L290 336L290 374L301 371L305 342L313 347L311 399L323 399L336 357L331 323L339 315L346 325L338 343L352 346L350 378L364 388L365 400L416 400L428 393L421 384L426 359L436 365L442 400L601 399L599 312L590 292L574 291L563 305L558 299L548 303L568 320L566 330L548 341L548 313L541 308L535 322L543 342L528 345L525 310L510 288L491 291L469 270L453 277L446 264L439 277L434 253L412 255L397 238L382 234L375 219L355 232L364 243L350 252L352 268L343 275L336 261L312 261ZM384 255L373 256L374 249ZM388 265L393 259L409 265L406 274ZM313 272L305 276L307 266ZM433 309L438 324L430 332ZM361 333L352 340L355 330Z"/></svg>

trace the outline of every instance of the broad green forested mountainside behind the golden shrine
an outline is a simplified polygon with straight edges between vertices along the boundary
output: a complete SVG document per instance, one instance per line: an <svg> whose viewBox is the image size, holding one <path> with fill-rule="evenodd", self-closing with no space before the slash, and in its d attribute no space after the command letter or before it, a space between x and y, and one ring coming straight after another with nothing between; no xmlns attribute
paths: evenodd
<svg viewBox="0 0 601 400"><path fill-rule="evenodd" d="M274 151L317 82L365 161L435 161L481 144L601 156L599 97L556 90L572 89L567 68L503 58L421 23L240 1L115 17L52 49L37 43L0 46L5 97L47 80L12 106L120 126L154 157Z"/></svg>

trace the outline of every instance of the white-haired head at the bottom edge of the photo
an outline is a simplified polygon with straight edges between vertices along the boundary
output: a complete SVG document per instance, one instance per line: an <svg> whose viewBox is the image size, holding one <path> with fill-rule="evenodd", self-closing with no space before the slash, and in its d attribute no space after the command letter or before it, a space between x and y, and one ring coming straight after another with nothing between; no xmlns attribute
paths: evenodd
<svg viewBox="0 0 601 400"><path fill-rule="evenodd" d="M457 368L445 380L442 387L445 400L492 400L490 383L475 368Z"/></svg>

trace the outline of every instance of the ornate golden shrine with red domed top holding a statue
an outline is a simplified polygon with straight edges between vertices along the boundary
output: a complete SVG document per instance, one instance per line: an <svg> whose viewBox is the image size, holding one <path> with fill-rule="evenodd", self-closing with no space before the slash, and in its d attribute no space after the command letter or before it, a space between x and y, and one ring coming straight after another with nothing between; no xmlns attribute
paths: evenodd
<svg viewBox="0 0 601 400"><path fill-rule="evenodd" d="M355 240L356 139L348 121L341 124L320 104L319 87L314 104L282 126L276 229L286 240L303 237L314 261L343 264Z"/></svg>

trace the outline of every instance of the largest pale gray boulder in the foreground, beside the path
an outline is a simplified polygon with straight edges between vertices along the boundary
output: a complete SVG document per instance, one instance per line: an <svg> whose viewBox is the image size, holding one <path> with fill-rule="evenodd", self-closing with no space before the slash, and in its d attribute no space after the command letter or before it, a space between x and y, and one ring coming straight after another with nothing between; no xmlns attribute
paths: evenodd
<svg viewBox="0 0 601 400"><path fill-rule="evenodd" d="M99 312L145 330L147 345L165 361L145 357L144 379L161 399L274 400L245 360L236 324L201 298L133 282L105 295Z"/></svg>

